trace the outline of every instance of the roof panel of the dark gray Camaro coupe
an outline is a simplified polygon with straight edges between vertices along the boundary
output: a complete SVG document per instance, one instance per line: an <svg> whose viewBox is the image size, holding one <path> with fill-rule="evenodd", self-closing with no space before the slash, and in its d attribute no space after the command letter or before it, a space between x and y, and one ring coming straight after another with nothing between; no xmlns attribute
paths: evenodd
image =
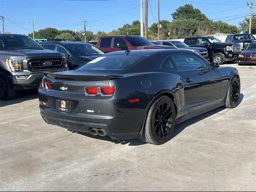
<svg viewBox="0 0 256 192"><path fill-rule="evenodd" d="M192 54L193 52L189 51L189 50L181 50L181 49L140 49L140 50L130 50L130 52L128 53L128 55L147 55L150 56L152 54L156 54L159 52L166 52L168 54ZM123 51L115 51L115 52L110 52L110 53L106 53L104 54L104 56L106 55L126 55L125 50Z"/></svg>

